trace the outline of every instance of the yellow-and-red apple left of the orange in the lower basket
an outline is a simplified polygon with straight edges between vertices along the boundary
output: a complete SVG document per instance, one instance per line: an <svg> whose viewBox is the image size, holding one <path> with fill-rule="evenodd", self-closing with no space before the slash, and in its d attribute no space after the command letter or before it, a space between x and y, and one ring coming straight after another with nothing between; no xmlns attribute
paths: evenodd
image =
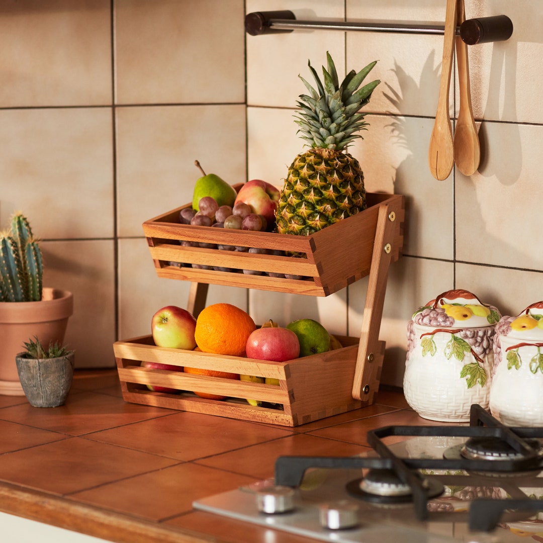
<svg viewBox="0 0 543 543"><path fill-rule="evenodd" d="M192 351L196 346L194 330L196 319L187 310L177 306L162 307L151 319L151 332L155 345Z"/></svg>

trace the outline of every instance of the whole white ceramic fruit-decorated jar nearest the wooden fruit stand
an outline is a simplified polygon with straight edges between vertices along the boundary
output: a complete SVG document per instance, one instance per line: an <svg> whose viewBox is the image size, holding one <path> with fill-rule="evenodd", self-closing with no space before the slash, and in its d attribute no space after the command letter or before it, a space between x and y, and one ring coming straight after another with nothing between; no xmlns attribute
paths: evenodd
<svg viewBox="0 0 543 543"><path fill-rule="evenodd" d="M403 392L421 417L467 422L472 403L488 409L498 320L496 307L464 290L444 292L415 311Z"/></svg>

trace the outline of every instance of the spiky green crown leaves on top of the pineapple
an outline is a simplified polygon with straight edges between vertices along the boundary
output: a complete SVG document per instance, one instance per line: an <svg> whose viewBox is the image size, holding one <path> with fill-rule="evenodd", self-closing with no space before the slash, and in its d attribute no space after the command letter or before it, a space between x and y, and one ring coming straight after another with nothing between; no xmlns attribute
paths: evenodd
<svg viewBox="0 0 543 543"><path fill-rule="evenodd" d="M302 134L301 138L310 143L310 147L343 150L356 138L362 138L356 132L365 130L368 123L364 122L364 113L359 113L359 110L369 102L371 93L381 81L371 81L358 88L377 64L377 61L373 61L358 73L351 70L339 84L330 53L326 53L326 58L324 83L311 66L311 61L308 62L317 89L301 75L298 76L310 94L300 94L300 100L296 102L300 110L294 122L300 127L298 133Z"/></svg>

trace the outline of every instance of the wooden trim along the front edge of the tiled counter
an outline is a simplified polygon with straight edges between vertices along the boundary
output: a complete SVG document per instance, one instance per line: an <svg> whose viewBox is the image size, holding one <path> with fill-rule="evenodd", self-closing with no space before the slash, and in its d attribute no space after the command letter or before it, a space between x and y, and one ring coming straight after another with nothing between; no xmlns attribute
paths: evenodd
<svg viewBox="0 0 543 543"><path fill-rule="evenodd" d="M0 510L114 543L220 543L213 536L191 534L7 482L0 482Z"/></svg>

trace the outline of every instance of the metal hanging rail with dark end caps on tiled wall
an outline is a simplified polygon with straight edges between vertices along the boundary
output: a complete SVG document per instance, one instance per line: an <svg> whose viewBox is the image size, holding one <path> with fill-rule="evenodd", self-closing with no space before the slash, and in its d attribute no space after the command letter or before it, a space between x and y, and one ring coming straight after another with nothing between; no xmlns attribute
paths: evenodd
<svg viewBox="0 0 543 543"><path fill-rule="evenodd" d="M368 23L343 21L298 21L292 11L255 11L245 16L245 30L252 36L292 32L293 30L357 30L401 34L443 35L445 26L425 23ZM479 17L464 21L456 34L468 45L503 41L513 34L513 23L507 15Z"/></svg>

